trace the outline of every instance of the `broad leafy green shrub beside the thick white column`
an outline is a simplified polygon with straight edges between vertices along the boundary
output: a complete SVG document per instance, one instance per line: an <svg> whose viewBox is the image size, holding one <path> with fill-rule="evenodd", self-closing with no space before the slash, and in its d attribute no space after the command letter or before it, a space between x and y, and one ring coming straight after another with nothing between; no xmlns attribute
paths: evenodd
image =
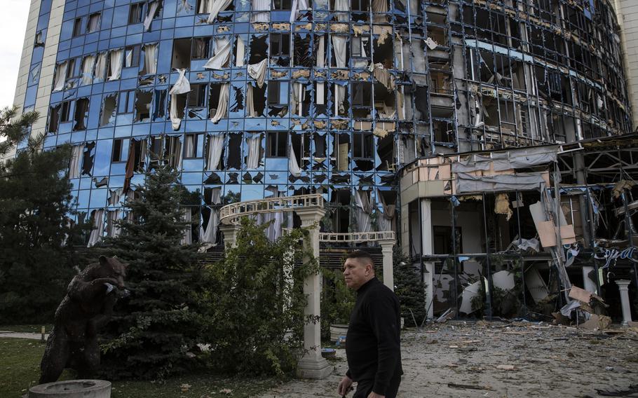
<svg viewBox="0 0 638 398"><path fill-rule="evenodd" d="M266 226L243 219L236 246L208 266L214 289L208 296L205 341L219 371L292 373L303 350L304 322L313 321L304 317L303 281L318 272L316 263L292 266L303 256L304 231L270 242Z"/></svg>

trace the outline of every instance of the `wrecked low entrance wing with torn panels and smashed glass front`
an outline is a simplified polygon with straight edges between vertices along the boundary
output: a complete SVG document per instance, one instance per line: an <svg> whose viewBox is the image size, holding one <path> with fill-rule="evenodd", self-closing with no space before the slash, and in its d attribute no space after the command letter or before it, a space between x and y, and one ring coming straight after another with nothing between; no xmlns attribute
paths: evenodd
<svg viewBox="0 0 638 398"><path fill-rule="evenodd" d="M402 249L429 318L637 319L637 135L421 158Z"/></svg>

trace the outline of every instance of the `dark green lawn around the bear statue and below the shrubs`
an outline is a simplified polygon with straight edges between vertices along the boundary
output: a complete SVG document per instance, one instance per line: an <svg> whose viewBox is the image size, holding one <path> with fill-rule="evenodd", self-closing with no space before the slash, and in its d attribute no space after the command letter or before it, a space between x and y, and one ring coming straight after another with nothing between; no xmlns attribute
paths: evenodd
<svg viewBox="0 0 638 398"><path fill-rule="evenodd" d="M40 377L44 344L36 340L0 338L0 397L21 397ZM73 378L71 371L61 380ZM228 378L214 374L191 374L163 382L118 381L111 398L247 398L277 384L273 378Z"/></svg>

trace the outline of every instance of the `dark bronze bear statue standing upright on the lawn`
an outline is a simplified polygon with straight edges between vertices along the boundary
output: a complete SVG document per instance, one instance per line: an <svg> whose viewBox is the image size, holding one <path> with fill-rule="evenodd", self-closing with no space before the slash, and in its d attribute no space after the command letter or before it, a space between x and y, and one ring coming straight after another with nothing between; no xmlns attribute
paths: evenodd
<svg viewBox="0 0 638 398"><path fill-rule="evenodd" d="M118 296L128 293L124 277L128 264L100 256L67 287L55 311L55 321L40 364L40 383L57 381L65 368L90 378L100 366L97 332L109 321Z"/></svg>

